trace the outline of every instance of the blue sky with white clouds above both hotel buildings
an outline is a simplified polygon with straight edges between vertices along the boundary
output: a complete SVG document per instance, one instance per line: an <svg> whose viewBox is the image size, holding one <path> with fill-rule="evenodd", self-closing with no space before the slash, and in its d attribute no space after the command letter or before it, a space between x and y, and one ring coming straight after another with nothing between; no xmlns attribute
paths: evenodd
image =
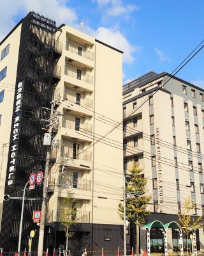
<svg viewBox="0 0 204 256"><path fill-rule="evenodd" d="M171 72L203 40L204 1L7 0L0 10L0 40L34 10L81 29L124 51L123 81L150 70ZM177 74L204 88L204 49Z"/></svg>

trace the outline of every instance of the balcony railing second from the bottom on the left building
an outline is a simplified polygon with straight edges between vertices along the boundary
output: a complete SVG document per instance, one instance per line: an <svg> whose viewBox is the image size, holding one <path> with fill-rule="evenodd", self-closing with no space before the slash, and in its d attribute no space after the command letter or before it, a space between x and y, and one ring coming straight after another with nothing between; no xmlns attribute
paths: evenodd
<svg viewBox="0 0 204 256"><path fill-rule="evenodd" d="M77 179L77 182L73 182L69 177L60 175L58 178L59 188L71 188L85 191L91 191L91 180Z"/></svg>

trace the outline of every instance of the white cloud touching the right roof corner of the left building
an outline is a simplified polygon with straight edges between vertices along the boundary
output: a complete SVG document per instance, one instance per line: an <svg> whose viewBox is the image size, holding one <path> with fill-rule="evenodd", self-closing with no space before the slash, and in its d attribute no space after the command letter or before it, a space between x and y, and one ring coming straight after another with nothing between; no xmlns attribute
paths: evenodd
<svg viewBox="0 0 204 256"><path fill-rule="evenodd" d="M135 60L133 57L133 52L138 51L138 47L131 45L119 30L99 27L95 32L95 36L98 40L101 40L102 42L123 51L124 62L131 63Z"/></svg>

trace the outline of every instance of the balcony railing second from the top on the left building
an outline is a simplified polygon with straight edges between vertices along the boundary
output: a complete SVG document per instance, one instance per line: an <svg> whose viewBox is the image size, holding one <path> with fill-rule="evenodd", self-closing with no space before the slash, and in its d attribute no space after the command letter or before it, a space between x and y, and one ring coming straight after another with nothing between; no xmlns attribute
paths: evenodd
<svg viewBox="0 0 204 256"><path fill-rule="evenodd" d="M80 70L80 71L79 71ZM67 76L74 77L78 80L85 81L87 83L92 84L93 83L93 76L87 74L86 72L82 71L79 68L75 68L73 66L66 65L64 67L64 74Z"/></svg>

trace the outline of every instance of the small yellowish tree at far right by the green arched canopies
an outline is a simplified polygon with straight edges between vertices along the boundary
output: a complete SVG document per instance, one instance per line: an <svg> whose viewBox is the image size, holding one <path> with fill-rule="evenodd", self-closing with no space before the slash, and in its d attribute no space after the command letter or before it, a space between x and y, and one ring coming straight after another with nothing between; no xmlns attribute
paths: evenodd
<svg viewBox="0 0 204 256"><path fill-rule="evenodd" d="M189 254L189 232L191 232L192 229L196 230L200 225L203 224L201 216L197 217L196 220L192 216L195 209L196 205L193 204L191 198L188 197L184 202L184 207L182 208L181 214L179 214L179 223L182 227L183 232L186 234L187 239L187 255Z"/></svg>

